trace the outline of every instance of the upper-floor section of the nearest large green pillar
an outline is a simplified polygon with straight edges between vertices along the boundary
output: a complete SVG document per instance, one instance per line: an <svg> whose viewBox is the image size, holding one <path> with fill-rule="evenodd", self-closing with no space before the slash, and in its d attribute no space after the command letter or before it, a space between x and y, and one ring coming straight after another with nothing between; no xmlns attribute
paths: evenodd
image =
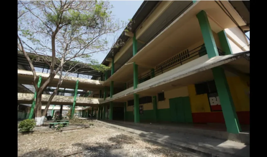
<svg viewBox="0 0 267 157"><path fill-rule="evenodd" d="M219 56L206 12L204 10L201 10L197 14L197 18L199 20L200 30L202 32L208 57L212 58L215 56Z"/></svg>

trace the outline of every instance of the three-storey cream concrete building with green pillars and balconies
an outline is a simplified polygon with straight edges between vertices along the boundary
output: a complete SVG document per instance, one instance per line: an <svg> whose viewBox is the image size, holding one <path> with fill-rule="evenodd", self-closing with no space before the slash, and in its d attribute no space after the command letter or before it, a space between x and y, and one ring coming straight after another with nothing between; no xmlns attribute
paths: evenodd
<svg viewBox="0 0 267 157"><path fill-rule="evenodd" d="M125 44L102 62L110 71L63 82L63 88L74 89L79 80L78 89L99 96L80 97L80 104L77 98L78 106L90 106L79 115L135 123L221 123L229 133L249 125L250 47L244 34L249 9L242 1L144 1L132 19L131 30L118 39ZM18 81L29 84L30 73L18 70ZM19 97L31 101L33 95ZM55 96L53 104L73 100Z"/></svg>

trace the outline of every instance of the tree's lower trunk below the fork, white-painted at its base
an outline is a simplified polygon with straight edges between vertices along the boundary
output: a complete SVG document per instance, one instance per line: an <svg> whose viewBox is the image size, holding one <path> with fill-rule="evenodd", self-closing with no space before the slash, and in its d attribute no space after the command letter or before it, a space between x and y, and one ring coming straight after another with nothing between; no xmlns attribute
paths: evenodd
<svg viewBox="0 0 267 157"><path fill-rule="evenodd" d="M42 92L38 91L36 96L36 116L35 121L37 126L44 124L45 116L42 116Z"/></svg>

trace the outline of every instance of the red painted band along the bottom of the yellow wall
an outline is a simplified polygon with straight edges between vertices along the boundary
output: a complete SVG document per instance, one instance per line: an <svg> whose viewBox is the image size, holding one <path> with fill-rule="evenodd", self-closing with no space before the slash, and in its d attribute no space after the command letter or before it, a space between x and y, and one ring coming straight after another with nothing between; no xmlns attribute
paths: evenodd
<svg viewBox="0 0 267 157"><path fill-rule="evenodd" d="M222 112L192 113L192 117L193 123L225 123ZM237 112L237 117L240 124L250 124L249 111Z"/></svg>

